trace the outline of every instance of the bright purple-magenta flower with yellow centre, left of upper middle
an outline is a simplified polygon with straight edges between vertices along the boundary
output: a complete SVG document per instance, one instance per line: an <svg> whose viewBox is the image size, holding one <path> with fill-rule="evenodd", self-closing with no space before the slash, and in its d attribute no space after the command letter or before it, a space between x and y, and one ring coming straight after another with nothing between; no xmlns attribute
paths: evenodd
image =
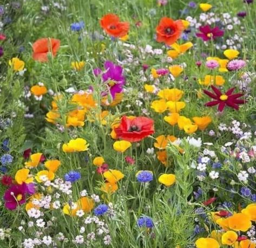
<svg viewBox="0 0 256 248"><path fill-rule="evenodd" d="M102 73L103 82L106 82L112 98L115 99L116 93L121 93L123 91L123 85L126 84L123 68L108 60L104 63L104 68L106 70L104 73L102 73L100 68L96 68L94 69L94 74L98 76Z"/></svg>

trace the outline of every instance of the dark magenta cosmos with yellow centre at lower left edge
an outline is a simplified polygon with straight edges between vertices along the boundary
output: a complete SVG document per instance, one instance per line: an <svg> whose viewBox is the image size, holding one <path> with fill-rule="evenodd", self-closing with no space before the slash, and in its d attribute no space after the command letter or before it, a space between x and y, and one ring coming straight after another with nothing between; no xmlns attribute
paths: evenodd
<svg viewBox="0 0 256 248"><path fill-rule="evenodd" d="M26 202L27 185L25 183L13 184L4 192L5 208L15 210L17 205L22 205Z"/></svg>

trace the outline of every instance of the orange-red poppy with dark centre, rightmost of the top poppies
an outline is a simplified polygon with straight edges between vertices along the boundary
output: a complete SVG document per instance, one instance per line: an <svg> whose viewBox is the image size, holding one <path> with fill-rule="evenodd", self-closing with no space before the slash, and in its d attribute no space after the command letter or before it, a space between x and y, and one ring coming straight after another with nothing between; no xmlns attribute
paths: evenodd
<svg viewBox="0 0 256 248"><path fill-rule="evenodd" d="M163 42L166 45L172 45L180 38L183 29L182 20L163 17L156 27L156 41Z"/></svg>

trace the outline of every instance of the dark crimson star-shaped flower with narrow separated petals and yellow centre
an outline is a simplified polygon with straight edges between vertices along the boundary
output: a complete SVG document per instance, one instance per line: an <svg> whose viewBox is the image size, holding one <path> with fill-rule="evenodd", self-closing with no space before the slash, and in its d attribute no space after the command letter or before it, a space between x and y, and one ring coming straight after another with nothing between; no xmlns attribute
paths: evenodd
<svg viewBox="0 0 256 248"><path fill-rule="evenodd" d="M209 97L211 97L212 99L214 99L214 101L207 102L205 106L212 107L215 105L219 105L218 111L222 112L226 105L228 107L238 110L239 104L245 104L245 100L238 99L242 97L243 94L238 93L238 94L232 95L235 88L230 88L225 94L222 94L221 91L215 86L212 85L211 87L215 94L213 94L212 92L206 91L205 89L204 89L204 93Z"/></svg>

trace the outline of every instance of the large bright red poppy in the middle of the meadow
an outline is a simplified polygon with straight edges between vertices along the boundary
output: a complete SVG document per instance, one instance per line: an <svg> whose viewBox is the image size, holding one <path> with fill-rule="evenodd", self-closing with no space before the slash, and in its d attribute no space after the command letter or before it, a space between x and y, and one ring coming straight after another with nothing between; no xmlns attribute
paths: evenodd
<svg viewBox="0 0 256 248"><path fill-rule="evenodd" d="M154 132L154 121L147 117L129 119L123 116L120 126L115 128L117 138L130 142L141 141Z"/></svg>

